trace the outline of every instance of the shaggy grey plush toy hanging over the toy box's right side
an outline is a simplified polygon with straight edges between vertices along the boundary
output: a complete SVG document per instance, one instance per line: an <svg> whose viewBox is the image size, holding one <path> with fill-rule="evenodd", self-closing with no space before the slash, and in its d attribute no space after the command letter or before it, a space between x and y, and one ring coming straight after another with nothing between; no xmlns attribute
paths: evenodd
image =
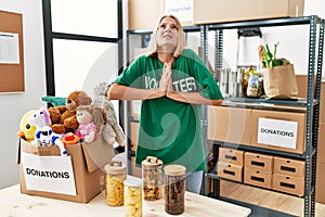
<svg viewBox="0 0 325 217"><path fill-rule="evenodd" d="M117 122L113 103L107 99L108 88L108 82L101 82L94 88L93 104L103 107L106 112L107 120L102 130L104 140L109 144L117 142L120 146L125 146L126 135Z"/></svg>

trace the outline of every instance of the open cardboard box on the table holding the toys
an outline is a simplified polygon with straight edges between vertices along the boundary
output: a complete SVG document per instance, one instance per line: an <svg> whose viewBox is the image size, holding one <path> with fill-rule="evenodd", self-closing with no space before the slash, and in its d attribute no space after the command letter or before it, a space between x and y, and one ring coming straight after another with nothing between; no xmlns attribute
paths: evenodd
<svg viewBox="0 0 325 217"><path fill-rule="evenodd" d="M105 188L103 167L114 156L114 148L102 137L91 143L36 146L21 139L21 192L78 203L88 203Z"/></svg>

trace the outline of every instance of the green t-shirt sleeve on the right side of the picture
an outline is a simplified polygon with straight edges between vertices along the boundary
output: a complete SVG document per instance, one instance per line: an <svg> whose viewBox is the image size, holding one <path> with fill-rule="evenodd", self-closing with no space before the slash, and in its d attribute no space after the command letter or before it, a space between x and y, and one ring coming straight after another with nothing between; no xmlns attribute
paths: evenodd
<svg viewBox="0 0 325 217"><path fill-rule="evenodd" d="M194 61L193 74L196 81L199 84L199 93L210 100L223 99L220 88L210 71L207 68L206 64L194 51L190 52L192 52L191 55L193 56L192 60Z"/></svg>

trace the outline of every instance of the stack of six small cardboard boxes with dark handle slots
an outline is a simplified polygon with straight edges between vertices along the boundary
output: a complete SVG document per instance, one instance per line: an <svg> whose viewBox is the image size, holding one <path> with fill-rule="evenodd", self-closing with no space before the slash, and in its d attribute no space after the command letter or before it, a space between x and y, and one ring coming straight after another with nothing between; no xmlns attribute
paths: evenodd
<svg viewBox="0 0 325 217"><path fill-rule="evenodd" d="M218 177L302 196L304 162L220 148Z"/></svg>

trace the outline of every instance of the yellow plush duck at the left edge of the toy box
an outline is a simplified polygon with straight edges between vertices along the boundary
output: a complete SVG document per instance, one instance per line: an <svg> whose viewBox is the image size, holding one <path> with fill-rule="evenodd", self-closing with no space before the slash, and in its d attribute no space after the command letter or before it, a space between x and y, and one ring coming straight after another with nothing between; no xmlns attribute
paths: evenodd
<svg viewBox="0 0 325 217"><path fill-rule="evenodd" d="M35 114L36 110L30 110L23 115L20 123L18 137L24 138L26 141L30 142L35 138L36 127L28 124L30 116Z"/></svg>

